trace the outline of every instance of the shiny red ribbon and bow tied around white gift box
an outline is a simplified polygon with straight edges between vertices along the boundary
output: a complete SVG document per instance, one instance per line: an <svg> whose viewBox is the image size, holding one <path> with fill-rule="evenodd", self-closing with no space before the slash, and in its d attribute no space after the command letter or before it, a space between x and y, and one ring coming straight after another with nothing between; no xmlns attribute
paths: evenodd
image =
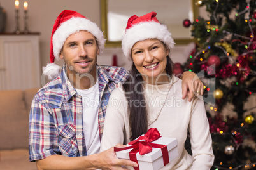
<svg viewBox="0 0 256 170"><path fill-rule="evenodd" d="M137 152L139 152L140 155L144 155L144 154L148 154L149 152L152 152L152 148L160 148L162 151L164 166L166 166L166 164L169 163L169 155L168 155L167 146L151 143L152 141L155 141L155 140L159 139L160 137L161 136L160 136L160 133L157 130L157 128L150 128L150 129L148 129L148 131L146 132L146 134L144 136L139 136L139 138L137 138L136 140L129 142L128 145L131 145L131 146L125 147L125 148L114 147L114 151L118 152L121 150L127 150L130 148L133 148L129 152L129 157L130 157L130 160L132 160L138 164L138 160L136 157ZM141 141L141 140L143 140L143 141ZM134 169L139 170L139 167L134 167Z"/></svg>

